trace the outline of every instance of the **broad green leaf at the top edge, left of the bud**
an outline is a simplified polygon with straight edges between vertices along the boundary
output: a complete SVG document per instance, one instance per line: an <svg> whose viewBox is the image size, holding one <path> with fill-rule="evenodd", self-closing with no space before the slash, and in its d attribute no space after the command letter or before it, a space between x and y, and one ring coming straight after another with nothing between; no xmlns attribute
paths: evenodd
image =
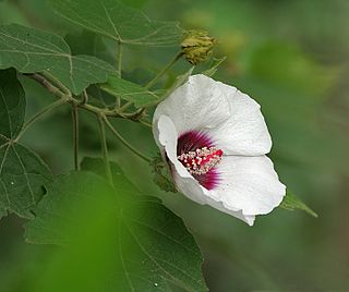
<svg viewBox="0 0 349 292"><path fill-rule="evenodd" d="M121 44L177 45L182 32L177 23L151 21L117 0L50 0L52 9L70 22Z"/></svg>

